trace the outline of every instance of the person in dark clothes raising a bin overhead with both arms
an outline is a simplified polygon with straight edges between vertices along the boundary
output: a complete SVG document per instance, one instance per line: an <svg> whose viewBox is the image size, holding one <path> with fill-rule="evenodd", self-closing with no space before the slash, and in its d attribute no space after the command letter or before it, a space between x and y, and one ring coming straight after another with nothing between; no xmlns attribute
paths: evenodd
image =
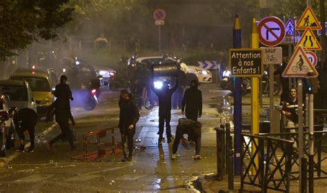
<svg viewBox="0 0 327 193"><path fill-rule="evenodd" d="M170 130L170 119L171 119L171 110L172 110L172 93L175 92L178 88L178 79L176 80L175 86L173 88L169 88L168 82L164 81L161 90L155 88L155 85L151 84L151 89L158 96L159 101L159 139L158 145L162 145L162 139L164 134L164 124L166 122L166 136L167 142L170 143L172 134Z"/></svg>

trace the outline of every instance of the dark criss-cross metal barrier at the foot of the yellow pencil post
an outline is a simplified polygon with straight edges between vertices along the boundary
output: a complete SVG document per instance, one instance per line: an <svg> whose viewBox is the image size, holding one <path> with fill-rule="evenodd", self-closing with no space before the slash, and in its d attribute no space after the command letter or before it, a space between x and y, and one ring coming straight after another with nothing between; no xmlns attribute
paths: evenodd
<svg viewBox="0 0 327 193"><path fill-rule="evenodd" d="M261 187L261 192L268 189L289 192L293 141L244 133L242 136L244 172L241 174L241 190L247 184ZM252 152L251 145L255 146L255 152ZM250 159L246 158L247 155Z"/></svg>

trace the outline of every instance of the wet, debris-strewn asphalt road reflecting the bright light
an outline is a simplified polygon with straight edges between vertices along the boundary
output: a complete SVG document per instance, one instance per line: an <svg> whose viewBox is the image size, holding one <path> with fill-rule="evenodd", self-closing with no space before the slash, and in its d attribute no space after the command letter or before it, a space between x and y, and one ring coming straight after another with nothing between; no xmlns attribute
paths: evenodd
<svg viewBox="0 0 327 193"><path fill-rule="evenodd" d="M103 88L100 105L95 110L72 110L77 119L75 143L78 150L71 151L67 141L59 141L53 145L52 152L45 143L37 143L31 153L9 151L9 163L0 166L0 192L197 192L192 181L199 175L216 171L213 128L218 124L217 108L221 97L226 95L226 92L212 92L217 89L215 84L201 85L200 89L204 95L204 113L199 120L203 124L200 161L192 159L195 150L192 144L179 145L177 153L180 156L175 161L170 160L172 143L158 148L157 108L141 110L133 161L122 163L121 153L94 161L72 159L83 153L83 133L118 124L119 92ZM173 133L181 117L180 110L172 110ZM45 139L52 139L59 134L59 128L53 123L40 122L36 133L42 132ZM115 137L120 141L119 130L115 130ZM107 136L102 140L109 139ZM95 148L90 145L90 150Z"/></svg>

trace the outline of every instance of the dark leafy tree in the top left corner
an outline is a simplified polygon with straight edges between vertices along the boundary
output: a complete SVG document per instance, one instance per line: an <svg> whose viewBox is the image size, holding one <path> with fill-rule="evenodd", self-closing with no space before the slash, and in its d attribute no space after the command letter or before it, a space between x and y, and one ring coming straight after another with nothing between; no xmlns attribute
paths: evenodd
<svg viewBox="0 0 327 193"><path fill-rule="evenodd" d="M57 37L57 29L72 20L68 0L1 0L0 60L39 39Z"/></svg>

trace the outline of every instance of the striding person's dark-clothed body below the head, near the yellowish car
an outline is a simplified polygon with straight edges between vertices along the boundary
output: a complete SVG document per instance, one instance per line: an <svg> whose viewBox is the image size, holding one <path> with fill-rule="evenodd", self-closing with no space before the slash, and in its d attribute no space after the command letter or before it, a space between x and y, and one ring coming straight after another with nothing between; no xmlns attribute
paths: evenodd
<svg viewBox="0 0 327 193"><path fill-rule="evenodd" d="M74 145L72 131L70 130L69 124L69 121L72 121L72 126L75 126L72 112L70 112L70 105L68 103L59 102L59 100L54 101L48 109L46 123L49 122L52 116L52 111L54 111L54 115L56 116L56 121L61 129L61 134L48 142L48 149L51 151L53 143L56 143L59 139L63 140L63 138L66 137L71 150L76 150L77 148Z"/></svg>

